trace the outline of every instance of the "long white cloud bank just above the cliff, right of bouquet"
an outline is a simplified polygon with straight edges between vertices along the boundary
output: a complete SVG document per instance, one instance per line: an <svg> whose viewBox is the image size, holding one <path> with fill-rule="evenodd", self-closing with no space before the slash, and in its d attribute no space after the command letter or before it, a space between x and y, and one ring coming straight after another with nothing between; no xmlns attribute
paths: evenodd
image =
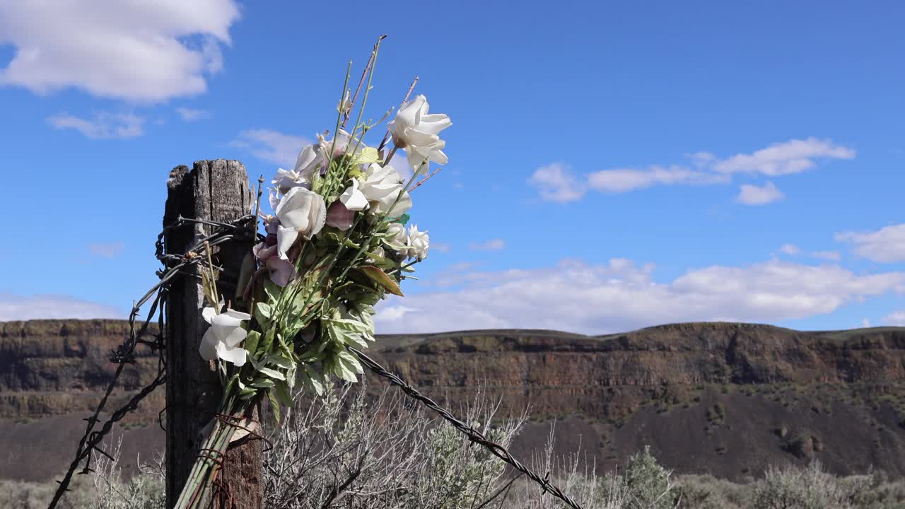
<svg viewBox="0 0 905 509"><path fill-rule="evenodd" d="M563 261L555 267L461 274L446 291L388 300L379 332L538 328L585 333L690 321L776 322L834 312L845 303L905 292L905 273L858 275L835 265L770 261L714 265L669 283L653 265ZM405 320L389 320L405 306Z"/></svg>

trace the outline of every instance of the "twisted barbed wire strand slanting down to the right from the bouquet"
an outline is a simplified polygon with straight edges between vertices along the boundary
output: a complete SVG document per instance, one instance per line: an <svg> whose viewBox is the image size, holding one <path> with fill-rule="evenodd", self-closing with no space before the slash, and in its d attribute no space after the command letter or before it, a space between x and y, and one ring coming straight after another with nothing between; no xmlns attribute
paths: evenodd
<svg viewBox="0 0 905 509"><path fill-rule="evenodd" d="M369 370L374 371L374 373L380 377L390 380L392 384L399 386L399 389L402 390L409 398L416 399L423 403L427 408L431 408L440 417L452 424L452 427L455 427L456 429L461 431L462 434L464 434L466 437L468 437L469 440L472 441L472 443L486 447L491 451L493 456L499 457L501 460L505 461L522 474L528 475L531 480L540 485L540 487L543 488L544 491L546 491L550 495L556 496L558 499L562 500L570 507L572 507L572 509L582 509L581 505L569 498L569 496L563 493L563 491L556 485L550 483L549 472L543 477L536 474L528 466L524 466L518 459L512 456L509 450L506 449L506 447L502 447L500 446L500 444L497 444L496 442L489 440L487 437L484 437L481 431L468 426L467 424L453 416L449 410L441 407L433 399L424 396L424 394L419 392L418 389L415 389L414 387L406 383L405 380L401 379L398 375L387 371L376 360L371 359L365 353L357 350L355 347L347 345L346 348L348 349L348 351L354 353L358 360L361 360L361 363L367 366Z"/></svg>

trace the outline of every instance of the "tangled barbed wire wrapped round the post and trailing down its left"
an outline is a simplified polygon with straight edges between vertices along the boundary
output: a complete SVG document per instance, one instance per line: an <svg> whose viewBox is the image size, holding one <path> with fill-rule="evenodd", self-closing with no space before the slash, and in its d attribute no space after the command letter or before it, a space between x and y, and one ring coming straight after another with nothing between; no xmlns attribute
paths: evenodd
<svg viewBox="0 0 905 509"><path fill-rule="evenodd" d="M100 447L100 442L104 437L110 434L110 430L113 429L113 426L119 422L119 420L125 418L129 412L138 408L138 403L147 398L154 389L157 389L166 383L167 342L165 334L167 329L165 326L165 310L167 308L167 295L170 284L174 282L178 275L186 274L186 269L189 266L204 263L206 257L203 255L205 254L206 246L213 247L214 245L220 245L237 238L247 238L251 231L249 224L251 223L253 225L253 221L254 216L252 215L240 217L229 223L206 221L203 219L190 219L179 216L176 221L165 226L160 234L157 235L155 257L163 264L163 269L157 271L157 277L160 281L142 295L137 302L132 304L132 310L129 312L129 336L115 351L110 352L110 362L116 363L117 368L113 371L110 383L107 385L104 396L100 399L97 408L94 409L94 412L90 417L84 419L88 422L88 425L85 427L85 433L79 440L79 446L75 451L75 458L72 460L69 469L66 471L66 474L63 475L62 480L57 481L59 486L57 486L56 493L54 493L51 503L47 506L48 509L54 509L62 499L62 496L67 491L70 491L69 485L72 480L72 475L75 475L76 471L79 470L79 466L81 466L82 462L84 462L84 466L81 467L79 474L89 474L94 471L94 469L91 468L91 461L95 453L112 459L110 454ZM212 233L211 235L207 235L196 241L195 245L192 245L183 255L167 253L166 235L171 230L186 225L210 226L212 228ZM148 308L148 313L145 315L142 322L137 322L142 306L149 301L151 304ZM155 315L157 315L157 333L152 334L153 340L145 339L148 336L148 329L150 328ZM110 418L104 421L100 429L95 429L98 423L100 423L100 414L104 411L104 408L107 407L107 403L110 400L110 394L116 387L119 376L122 375L126 365L136 363L135 351L138 348L138 345L148 346L152 352L157 351L157 376L151 380L147 386L133 395L123 406L117 408L110 414Z"/></svg>

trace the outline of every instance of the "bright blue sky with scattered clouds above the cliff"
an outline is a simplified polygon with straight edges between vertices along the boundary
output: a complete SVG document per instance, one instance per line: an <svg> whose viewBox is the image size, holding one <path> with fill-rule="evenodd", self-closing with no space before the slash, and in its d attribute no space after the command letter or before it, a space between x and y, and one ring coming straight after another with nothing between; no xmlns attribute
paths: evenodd
<svg viewBox="0 0 905 509"><path fill-rule="evenodd" d="M905 324L896 3L75 4L0 2L0 320L124 315L168 170L290 167L388 34L369 116L453 125L378 331Z"/></svg>

